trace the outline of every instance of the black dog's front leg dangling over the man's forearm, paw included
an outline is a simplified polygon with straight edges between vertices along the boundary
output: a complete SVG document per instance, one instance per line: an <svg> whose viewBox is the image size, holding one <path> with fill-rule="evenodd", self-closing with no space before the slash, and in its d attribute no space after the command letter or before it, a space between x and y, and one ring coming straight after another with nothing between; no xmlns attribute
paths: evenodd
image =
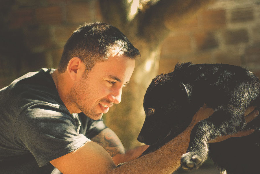
<svg viewBox="0 0 260 174"><path fill-rule="evenodd" d="M183 169L198 169L207 159L208 141L217 136L231 135L245 125L244 110L232 106L218 107L207 119L198 122L191 131L187 153L181 157Z"/></svg>

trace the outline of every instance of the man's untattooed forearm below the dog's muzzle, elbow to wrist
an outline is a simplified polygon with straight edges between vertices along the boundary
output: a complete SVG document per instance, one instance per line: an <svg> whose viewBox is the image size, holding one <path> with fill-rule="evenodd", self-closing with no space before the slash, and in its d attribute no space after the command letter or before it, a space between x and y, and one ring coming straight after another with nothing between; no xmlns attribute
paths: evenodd
<svg viewBox="0 0 260 174"><path fill-rule="evenodd" d="M180 157L186 153L194 124L154 152L113 169L108 173L172 173L180 166Z"/></svg>

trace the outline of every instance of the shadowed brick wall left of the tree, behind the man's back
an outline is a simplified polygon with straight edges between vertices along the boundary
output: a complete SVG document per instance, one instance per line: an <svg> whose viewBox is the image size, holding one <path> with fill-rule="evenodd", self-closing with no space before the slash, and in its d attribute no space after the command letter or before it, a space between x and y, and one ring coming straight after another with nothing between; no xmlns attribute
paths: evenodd
<svg viewBox="0 0 260 174"><path fill-rule="evenodd" d="M28 71L58 65L71 33L102 21L95 0L2 0L0 88Z"/></svg>

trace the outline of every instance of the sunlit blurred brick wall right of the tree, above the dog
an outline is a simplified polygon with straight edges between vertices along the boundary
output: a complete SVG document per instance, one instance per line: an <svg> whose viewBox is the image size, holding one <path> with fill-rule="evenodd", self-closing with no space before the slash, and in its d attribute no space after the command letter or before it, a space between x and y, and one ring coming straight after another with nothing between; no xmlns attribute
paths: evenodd
<svg viewBox="0 0 260 174"><path fill-rule="evenodd" d="M259 0L216 0L181 26L167 22L171 34L161 45L158 73L192 61L239 65L260 77Z"/></svg>

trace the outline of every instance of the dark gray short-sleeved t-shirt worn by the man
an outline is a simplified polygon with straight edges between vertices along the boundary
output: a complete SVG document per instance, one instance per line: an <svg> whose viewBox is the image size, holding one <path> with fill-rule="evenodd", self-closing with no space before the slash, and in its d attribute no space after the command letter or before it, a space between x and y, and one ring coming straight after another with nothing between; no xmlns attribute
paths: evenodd
<svg viewBox="0 0 260 174"><path fill-rule="evenodd" d="M42 167L106 128L102 120L70 114L58 95L52 71L27 73L0 90L0 164L32 154Z"/></svg>

